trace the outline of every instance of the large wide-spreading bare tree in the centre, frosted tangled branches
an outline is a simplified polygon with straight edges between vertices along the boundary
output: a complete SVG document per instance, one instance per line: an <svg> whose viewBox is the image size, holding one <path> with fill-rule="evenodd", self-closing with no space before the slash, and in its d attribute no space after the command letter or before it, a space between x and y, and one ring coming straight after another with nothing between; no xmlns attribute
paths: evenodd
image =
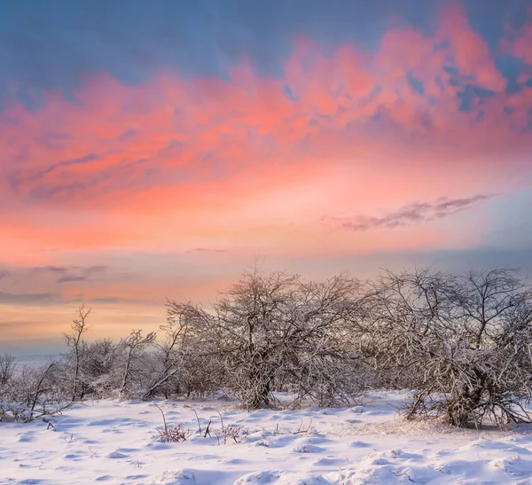
<svg viewBox="0 0 532 485"><path fill-rule="evenodd" d="M270 406L273 386L287 380L299 386L301 396L323 397L325 389L330 397L340 395L334 378L353 356L352 348L342 355L349 346L342 344L341 335L358 315L359 289L359 283L345 275L324 284L305 284L298 275L263 274L255 268L210 311L190 303L170 305L193 329L197 338L191 341L200 355L210 355L223 366L225 387L247 409L255 409ZM320 380L326 384L318 392Z"/></svg>

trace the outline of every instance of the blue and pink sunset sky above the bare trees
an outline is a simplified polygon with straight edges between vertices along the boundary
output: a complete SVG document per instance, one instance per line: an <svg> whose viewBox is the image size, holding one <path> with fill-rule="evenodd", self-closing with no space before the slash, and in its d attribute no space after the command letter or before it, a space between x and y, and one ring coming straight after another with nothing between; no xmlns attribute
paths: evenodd
<svg viewBox="0 0 532 485"><path fill-rule="evenodd" d="M532 1L3 2L0 352L260 261L532 270Z"/></svg>

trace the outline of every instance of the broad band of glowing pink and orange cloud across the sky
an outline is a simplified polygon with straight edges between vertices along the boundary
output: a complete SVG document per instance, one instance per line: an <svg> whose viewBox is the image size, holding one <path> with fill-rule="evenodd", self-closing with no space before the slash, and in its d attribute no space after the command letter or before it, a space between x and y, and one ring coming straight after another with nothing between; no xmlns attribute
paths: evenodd
<svg viewBox="0 0 532 485"><path fill-rule="evenodd" d="M508 47L523 57L527 32ZM51 91L43 108L0 114L0 240L32 261L65 247L185 251L206 241L319 252L326 215L511 190L532 141L531 105L532 90L505 94L459 4L431 35L393 20L377 51L296 38L277 77L246 59L228 80L160 71L128 86L100 74L75 102ZM453 231L415 231L334 241L342 251L462 244Z"/></svg>

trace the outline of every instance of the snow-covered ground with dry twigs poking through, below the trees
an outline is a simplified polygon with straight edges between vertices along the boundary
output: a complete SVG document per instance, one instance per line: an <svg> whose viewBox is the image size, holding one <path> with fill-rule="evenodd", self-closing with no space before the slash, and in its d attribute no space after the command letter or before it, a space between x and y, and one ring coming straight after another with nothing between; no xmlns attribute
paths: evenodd
<svg viewBox="0 0 532 485"><path fill-rule="evenodd" d="M158 402L168 426L193 431L185 442L160 442L155 403L76 404L52 419L53 429L0 423L0 483L532 483L532 427L406 422L395 412L403 398L379 393L352 408L249 413L226 401ZM224 444L218 411L224 426L248 434Z"/></svg>

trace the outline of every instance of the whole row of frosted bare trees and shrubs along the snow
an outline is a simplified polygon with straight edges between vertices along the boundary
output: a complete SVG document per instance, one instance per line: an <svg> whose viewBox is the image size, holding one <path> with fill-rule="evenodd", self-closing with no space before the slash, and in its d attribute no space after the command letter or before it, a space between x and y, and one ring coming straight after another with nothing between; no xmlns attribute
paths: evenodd
<svg viewBox="0 0 532 485"><path fill-rule="evenodd" d="M518 270L315 282L254 269L208 307L168 300L157 333L90 341L89 319L77 309L65 355L43 368L0 356L0 420L87 398L217 391L247 410L282 405L274 391L291 406L342 406L368 389L410 389L407 419L503 427L532 418L532 286Z"/></svg>

